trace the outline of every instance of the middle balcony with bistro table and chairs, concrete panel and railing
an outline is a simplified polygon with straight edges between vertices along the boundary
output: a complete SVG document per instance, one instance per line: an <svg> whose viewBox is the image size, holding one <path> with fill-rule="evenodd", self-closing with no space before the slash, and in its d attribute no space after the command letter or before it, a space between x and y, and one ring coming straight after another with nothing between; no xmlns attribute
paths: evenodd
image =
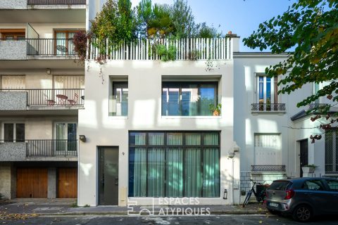
<svg viewBox="0 0 338 225"><path fill-rule="evenodd" d="M0 89L0 110L75 110L84 106L84 89Z"/></svg>

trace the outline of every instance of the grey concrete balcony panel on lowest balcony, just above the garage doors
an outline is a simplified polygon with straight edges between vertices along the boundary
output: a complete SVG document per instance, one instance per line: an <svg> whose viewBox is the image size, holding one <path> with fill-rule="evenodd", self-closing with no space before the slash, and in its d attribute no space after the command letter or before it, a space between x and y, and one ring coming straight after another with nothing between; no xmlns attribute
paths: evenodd
<svg viewBox="0 0 338 225"><path fill-rule="evenodd" d="M0 161L23 161L26 159L26 149L27 143L25 142L0 143Z"/></svg>

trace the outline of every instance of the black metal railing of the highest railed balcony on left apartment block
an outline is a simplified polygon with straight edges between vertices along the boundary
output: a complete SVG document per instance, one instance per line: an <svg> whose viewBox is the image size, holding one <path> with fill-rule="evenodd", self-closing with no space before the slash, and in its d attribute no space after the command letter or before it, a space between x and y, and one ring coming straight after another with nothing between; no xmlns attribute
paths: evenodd
<svg viewBox="0 0 338 225"><path fill-rule="evenodd" d="M23 39L27 56L75 56L73 39Z"/></svg>

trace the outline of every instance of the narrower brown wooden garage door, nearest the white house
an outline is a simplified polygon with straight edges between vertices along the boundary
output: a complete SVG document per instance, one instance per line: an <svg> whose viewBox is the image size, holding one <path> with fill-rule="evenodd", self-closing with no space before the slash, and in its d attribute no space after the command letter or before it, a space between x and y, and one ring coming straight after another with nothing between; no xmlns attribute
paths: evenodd
<svg viewBox="0 0 338 225"><path fill-rule="evenodd" d="M77 198L77 168L58 169L58 198Z"/></svg>

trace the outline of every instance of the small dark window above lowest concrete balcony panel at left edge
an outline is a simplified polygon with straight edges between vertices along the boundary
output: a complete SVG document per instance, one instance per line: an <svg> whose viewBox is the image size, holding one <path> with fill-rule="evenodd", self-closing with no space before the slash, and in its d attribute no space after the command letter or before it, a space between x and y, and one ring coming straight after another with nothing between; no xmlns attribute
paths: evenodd
<svg viewBox="0 0 338 225"><path fill-rule="evenodd" d="M4 141L5 142L25 141L25 124L4 123Z"/></svg>

